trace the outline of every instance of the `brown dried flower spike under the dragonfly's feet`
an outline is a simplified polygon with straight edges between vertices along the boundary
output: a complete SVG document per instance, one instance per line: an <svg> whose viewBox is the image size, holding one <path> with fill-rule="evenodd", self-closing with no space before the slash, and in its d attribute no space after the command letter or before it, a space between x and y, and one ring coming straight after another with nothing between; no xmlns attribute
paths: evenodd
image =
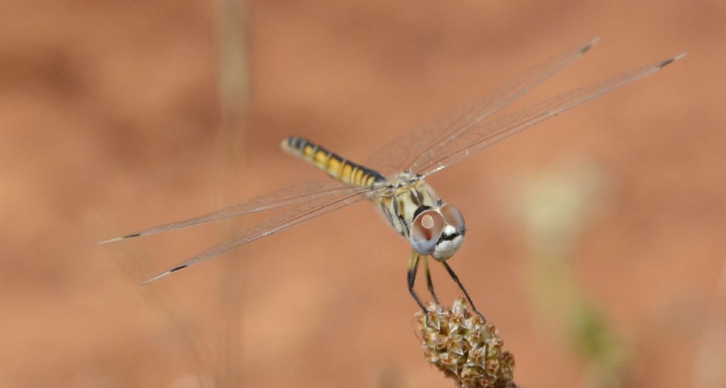
<svg viewBox="0 0 726 388"><path fill-rule="evenodd" d="M434 302L416 315L429 363L456 381L457 387L513 388L514 356L502 352L502 339L492 323L468 311L461 298L451 310Z"/></svg>

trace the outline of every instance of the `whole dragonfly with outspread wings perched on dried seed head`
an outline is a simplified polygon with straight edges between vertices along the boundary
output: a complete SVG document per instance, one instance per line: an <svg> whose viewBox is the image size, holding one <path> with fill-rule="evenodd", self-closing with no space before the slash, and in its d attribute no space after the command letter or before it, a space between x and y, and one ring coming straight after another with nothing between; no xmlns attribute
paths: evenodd
<svg viewBox="0 0 726 388"><path fill-rule="evenodd" d="M290 136L282 141L282 149L285 152L310 162L319 170L325 171L333 180L299 183L216 212L134 231L98 244L160 234L256 212L283 207L287 209L142 283L147 284L210 260L231 249L367 199L383 214L395 231L408 239L411 245L407 285L417 305L423 311L427 311L414 289L420 263L423 263L428 291L434 302L439 304L428 265L428 259L431 257L444 265L446 272L461 289L472 309L484 319L484 315L474 307L460 278L448 263L449 258L464 242L465 220L460 210L444 202L425 182L425 178L466 160L532 125L595 99L608 91L656 73L685 56L685 53L678 54L589 86L575 88L502 117L492 117L582 57L597 41L599 38L592 38L531 67L513 78L513 81L495 89L493 94L457 115L391 141L372 154L364 164L340 157L335 152L330 152L325 147L299 136ZM374 166L375 169L366 166Z"/></svg>

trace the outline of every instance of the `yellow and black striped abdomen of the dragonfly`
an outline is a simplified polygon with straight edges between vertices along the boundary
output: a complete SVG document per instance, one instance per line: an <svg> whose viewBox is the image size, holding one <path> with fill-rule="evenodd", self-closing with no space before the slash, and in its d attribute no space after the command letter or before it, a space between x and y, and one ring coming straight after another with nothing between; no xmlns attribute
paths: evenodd
<svg viewBox="0 0 726 388"><path fill-rule="evenodd" d="M311 162L327 175L351 186L371 186L373 183L386 181L378 171L343 159L335 152L300 136L290 136L280 146L285 152Z"/></svg>

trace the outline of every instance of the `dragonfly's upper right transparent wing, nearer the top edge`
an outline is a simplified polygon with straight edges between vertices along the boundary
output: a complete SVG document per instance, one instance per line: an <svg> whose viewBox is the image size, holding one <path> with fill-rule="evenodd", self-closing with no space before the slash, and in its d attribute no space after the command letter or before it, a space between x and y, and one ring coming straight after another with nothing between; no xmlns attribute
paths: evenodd
<svg viewBox="0 0 726 388"><path fill-rule="evenodd" d="M486 97L467 110L448 120L435 123L423 130L401 136L372 154L366 165L375 168L385 176L407 170L411 165L420 164L422 158L439 154L437 144L455 133L466 131L468 126L478 123L494 112L501 110L532 88L550 78L587 52L598 38L574 46L555 57L532 67L513 81L505 83L494 94Z"/></svg>

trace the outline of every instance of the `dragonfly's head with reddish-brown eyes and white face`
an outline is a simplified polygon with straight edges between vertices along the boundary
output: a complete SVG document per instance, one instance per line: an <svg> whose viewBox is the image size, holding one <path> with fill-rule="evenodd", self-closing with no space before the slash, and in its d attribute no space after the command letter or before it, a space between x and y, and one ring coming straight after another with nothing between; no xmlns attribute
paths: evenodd
<svg viewBox="0 0 726 388"><path fill-rule="evenodd" d="M461 247L466 234L464 216L454 206L444 204L423 210L413 220L409 241L420 255L445 261Z"/></svg>

